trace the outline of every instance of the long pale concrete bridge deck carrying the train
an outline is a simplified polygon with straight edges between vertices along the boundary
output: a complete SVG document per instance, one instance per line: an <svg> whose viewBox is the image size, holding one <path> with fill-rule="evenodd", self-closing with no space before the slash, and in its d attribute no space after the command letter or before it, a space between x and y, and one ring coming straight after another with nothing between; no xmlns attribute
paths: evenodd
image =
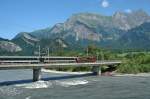
<svg viewBox="0 0 150 99"><path fill-rule="evenodd" d="M0 70L4 69L34 69L34 68L52 68L52 67L80 67L80 66L101 66L121 64L121 61L97 61L87 63L38 63L38 64L0 64Z"/></svg>

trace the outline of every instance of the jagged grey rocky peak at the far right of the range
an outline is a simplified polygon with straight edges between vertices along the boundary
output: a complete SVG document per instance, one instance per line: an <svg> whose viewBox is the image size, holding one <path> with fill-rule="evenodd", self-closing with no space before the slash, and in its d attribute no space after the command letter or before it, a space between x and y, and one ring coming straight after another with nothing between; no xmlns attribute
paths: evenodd
<svg viewBox="0 0 150 99"><path fill-rule="evenodd" d="M113 24L121 30L135 28L150 21L150 16L143 10L132 11L131 13L116 12L112 16Z"/></svg>

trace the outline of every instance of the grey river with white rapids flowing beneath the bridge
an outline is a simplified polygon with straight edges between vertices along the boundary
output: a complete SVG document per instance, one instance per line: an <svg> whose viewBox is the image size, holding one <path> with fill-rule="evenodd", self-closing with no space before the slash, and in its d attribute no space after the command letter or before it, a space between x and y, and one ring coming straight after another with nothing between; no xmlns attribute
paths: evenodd
<svg viewBox="0 0 150 99"><path fill-rule="evenodd" d="M150 77L43 73L42 78L32 83L31 70L0 71L0 99L150 99Z"/></svg>

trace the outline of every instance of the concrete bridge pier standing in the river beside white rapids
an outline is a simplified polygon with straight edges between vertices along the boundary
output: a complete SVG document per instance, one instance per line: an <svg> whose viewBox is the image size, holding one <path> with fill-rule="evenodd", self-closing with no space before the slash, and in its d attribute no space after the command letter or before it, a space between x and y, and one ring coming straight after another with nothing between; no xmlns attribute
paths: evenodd
<svg viewBox="0 0 150 99"><path fill-rule="evenodd" d="M41 79L41 68L33 69L33 82L39 81Z"/></svg>

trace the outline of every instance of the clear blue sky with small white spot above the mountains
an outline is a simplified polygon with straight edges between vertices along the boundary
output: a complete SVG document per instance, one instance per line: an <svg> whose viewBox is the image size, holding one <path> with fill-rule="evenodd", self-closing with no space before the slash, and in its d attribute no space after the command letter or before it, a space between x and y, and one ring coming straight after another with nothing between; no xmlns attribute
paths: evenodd
<svg viewBox="0 0 150 99"><path fill-rule="evenodd" d="M137 9L150 14L150 0L0 0L0 37L52 27L74 13L112 15Z"/></svg>

